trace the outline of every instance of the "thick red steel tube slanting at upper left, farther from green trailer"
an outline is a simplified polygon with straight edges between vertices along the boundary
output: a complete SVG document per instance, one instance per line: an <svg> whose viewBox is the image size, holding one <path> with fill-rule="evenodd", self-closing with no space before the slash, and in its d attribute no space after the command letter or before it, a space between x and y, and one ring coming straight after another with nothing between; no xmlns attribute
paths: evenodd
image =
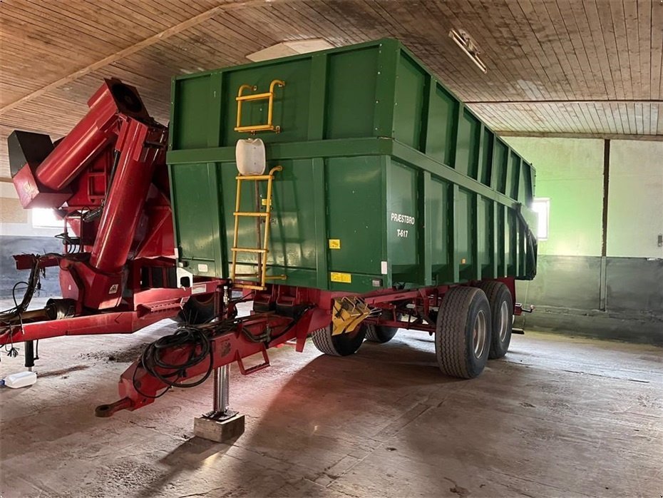
<svg viewBox="0 0 663 498"><path fill-rule="evenodd" d="M118 107L108 82L88 101L90 111L36 169L36 179L52 190L73 181L96 154L115 138Z"/></svg>

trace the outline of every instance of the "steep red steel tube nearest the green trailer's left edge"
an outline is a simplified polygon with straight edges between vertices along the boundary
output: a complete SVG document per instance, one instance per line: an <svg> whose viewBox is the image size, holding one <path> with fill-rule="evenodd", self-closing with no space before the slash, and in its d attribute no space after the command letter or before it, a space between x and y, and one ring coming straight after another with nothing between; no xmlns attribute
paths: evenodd
<svg viewBox="0 0 663 498"><path fill-rule="evenodd" d="M160 153L160 148L145 145L150 138L163 143L165 128L131 118L123 123L117 145L120 159L90 258L90 264L101 272L117 273L127 261Z"/></svg>

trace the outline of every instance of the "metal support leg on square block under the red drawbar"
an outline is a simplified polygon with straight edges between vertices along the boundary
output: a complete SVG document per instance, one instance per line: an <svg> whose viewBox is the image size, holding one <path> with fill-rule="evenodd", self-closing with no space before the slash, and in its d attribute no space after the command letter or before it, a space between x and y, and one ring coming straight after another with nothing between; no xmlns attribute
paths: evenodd
<svg viewBox="0 0 663 498"><path fill-rule="evenodd" d="M211 412L197 417L193 433L197 437L216 442L228 442L244 433L244 415L230 410L230 365L223 365L214 371L214 405Z"/></svg>

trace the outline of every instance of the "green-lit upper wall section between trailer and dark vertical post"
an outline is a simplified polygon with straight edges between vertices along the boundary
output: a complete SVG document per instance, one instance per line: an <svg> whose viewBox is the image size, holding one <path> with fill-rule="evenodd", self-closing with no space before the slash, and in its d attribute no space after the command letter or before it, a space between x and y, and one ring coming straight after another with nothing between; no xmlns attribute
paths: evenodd
<svg viewBox="0 0 663 498"><path fill-rule="evenodd" d="M539 254L600 256L603 141L506 137L536 168L536 197L550 198L548 240Z"/></svg>

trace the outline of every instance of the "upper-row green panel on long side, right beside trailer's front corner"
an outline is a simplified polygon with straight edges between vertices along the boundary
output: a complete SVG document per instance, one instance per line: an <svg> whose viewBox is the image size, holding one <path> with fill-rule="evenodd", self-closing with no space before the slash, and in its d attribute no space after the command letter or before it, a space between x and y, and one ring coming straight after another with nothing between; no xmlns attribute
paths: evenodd
<svg viewBox="0 0 663 498"><path fill-rule="evenodd" d="M426 71L408 56L399 59L394 101L394 138L406 146L422 150L423 95Z"/></svg>

